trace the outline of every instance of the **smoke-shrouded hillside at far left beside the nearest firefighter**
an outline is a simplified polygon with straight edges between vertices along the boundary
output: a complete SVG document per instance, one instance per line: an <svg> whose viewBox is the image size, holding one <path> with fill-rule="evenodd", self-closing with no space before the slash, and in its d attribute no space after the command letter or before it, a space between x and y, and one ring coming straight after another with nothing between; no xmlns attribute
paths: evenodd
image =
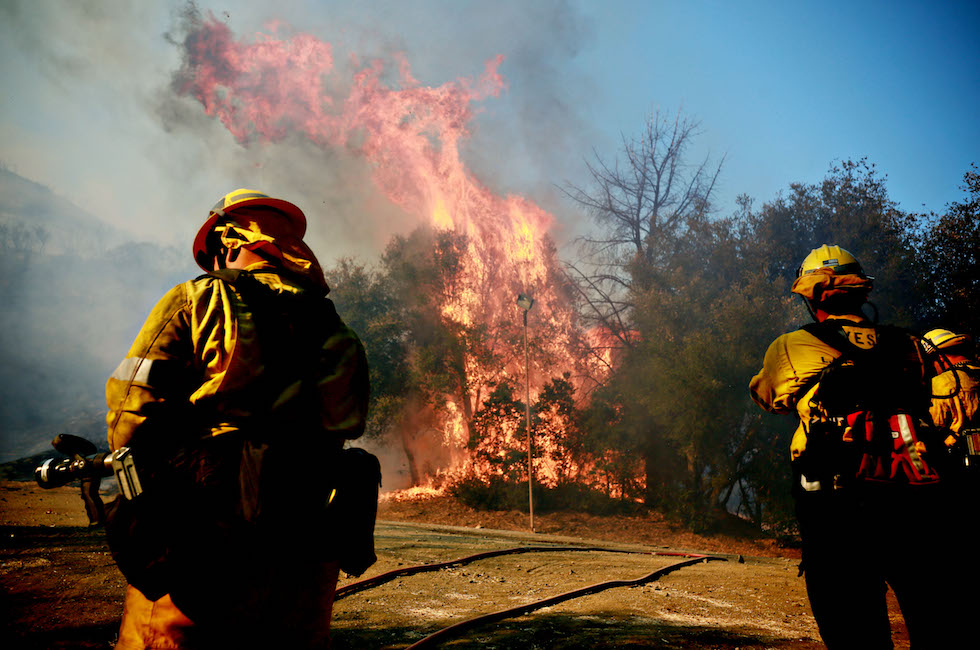
<svg viewBox="0 0 980 650"><path fill-rule="evenodd" d="M58 433L105 438L105 379L183 251L132 241L48 188L0 169L0 462Z"/></svg>

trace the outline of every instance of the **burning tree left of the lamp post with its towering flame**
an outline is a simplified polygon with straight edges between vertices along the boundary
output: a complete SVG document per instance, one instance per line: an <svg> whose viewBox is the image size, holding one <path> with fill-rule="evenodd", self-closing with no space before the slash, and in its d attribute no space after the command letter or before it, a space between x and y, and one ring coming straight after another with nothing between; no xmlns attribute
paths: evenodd
<svg viewBox="0 0 980 650"><path fill-rule="evenodd" d="M414 231L391 240L376 275L348 264L342 279L361 282L363 304L371 294L385 305L384 314L371 308L364 330L369 355L371 336L386 337L378 354L394 373L376 377L387 400L378 423L401 431L413 481L430 473L419 458L425 441L442 455L433 469L476 471L468 445L486 419L478 414L495 387L525 372L518 293L536 301L533 392L564 372L576 381L585 374L548 234L552 215L523 197L494 194L461 158L472 104L504 87L502 59L488 61L478 79L427 87L404 57L394 69L369 61L348 75L331 46L310 35L246 42L214 16L186 18L179 94L200 102L242 146L300 136L324 151L356 153L370 164L377 190L415 219ZM504 444L503 429L498 437Z"/></svg>

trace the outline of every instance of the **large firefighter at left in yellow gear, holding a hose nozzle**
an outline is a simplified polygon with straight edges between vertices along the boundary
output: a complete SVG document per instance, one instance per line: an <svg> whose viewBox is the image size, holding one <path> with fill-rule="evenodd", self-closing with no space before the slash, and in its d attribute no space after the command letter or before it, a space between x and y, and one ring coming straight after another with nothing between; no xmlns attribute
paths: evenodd
<svg viewBox="0 0 980 650"><path fill-rule="evenodd" d="M318 472L330 467L345 440L364 431L364 349L326 298L329 288L303 241L305 231L306 216L297 206L251 189L229 193L209 212L193 245L195 261L208 274L174 287L157 303L106 384L109 445L131 448L151 479L166 477L200 441L218 444L248 433L261 441L253 449L279 445L280 465L287 458L320 461L297 467L308 476L281 487L301 494L319 489L325 478ZM240 456L234 457L236 472ZM169 498L148 483L146 496L161 503ZM158 485L169 484L161 479ZM186 507L174 506L175 520L156 525L165 531L183 526ZM186 606L177 593L146 589L148 596L131 584L116 647L326 647L338 563L308 553L327 545L306 539L306 529L292 524L279 527L281 540L273 535L262 538L264 546L238 549L243 566L233 588L241 593L231 595L251 599L240 625L208 622L209 610L230 596L207 576L200 576L196 593L184 596ZM218 563L223 549L207 548L213 539L221 538L202 532L199 550Z"/></svg>

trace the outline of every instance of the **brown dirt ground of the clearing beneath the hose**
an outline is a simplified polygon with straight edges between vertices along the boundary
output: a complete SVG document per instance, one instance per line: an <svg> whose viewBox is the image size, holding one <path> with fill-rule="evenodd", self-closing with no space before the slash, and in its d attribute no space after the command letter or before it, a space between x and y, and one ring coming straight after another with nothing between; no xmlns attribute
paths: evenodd
<svg viewBox="0 0 980 650"><path fill-rule="evenodd" d="M684 559L667 552L721 559L480 625L432 647L823 647L794 549L744 530L693 535L655 515L536 514L535 528L528 530L526 514L477 512L445 497L383 502L378 562L362 578L517 547L605 550L505 555L346 595L334 608L335 650L406 648L476 616ZM0 539L0 647L112 647L125 583L102 531L86 526L77 488L0 483ZM343 578L341 586L353 582ZM894 599L891 607L896 647L907 648Z"/></svg>

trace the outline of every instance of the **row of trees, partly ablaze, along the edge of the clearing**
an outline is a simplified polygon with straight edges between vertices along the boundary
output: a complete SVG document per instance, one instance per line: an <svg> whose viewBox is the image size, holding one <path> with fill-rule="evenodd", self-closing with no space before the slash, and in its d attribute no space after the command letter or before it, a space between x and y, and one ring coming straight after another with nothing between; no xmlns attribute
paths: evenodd
<svg viewBox="0 0 980 650"><path fill-rule="evenodd" d="M452 425L457 451L480 467L467 489L526 485L530 425L534 480L548 489L642 500L695 527L734 511L780 528L791 520L795 425L763 414L747 386L768 344L810 318L789 291L810 250L840 245L875 277L869 317L976 334L975 167L965 199L942 214L903 211L887 178L859 159L836 161L822 180L791 183L758 207L740 196L732 214L718 215L724 160L691 162L698 135L698 122L680 112L654 114L638 137L623 138L615 160L589 163L589 186L565 188L594 229L564 274L549 276L550 311L529 340L530 404L518 397L518 319L459 319L446 309L463 290L518 289L467 286L465 234L422 228L393 238L374 270L346 260L328 274L368 350L371 430L401 442L413 482L436 471L430 452ZM557 310L575 318L551 318Z"/></svg>

